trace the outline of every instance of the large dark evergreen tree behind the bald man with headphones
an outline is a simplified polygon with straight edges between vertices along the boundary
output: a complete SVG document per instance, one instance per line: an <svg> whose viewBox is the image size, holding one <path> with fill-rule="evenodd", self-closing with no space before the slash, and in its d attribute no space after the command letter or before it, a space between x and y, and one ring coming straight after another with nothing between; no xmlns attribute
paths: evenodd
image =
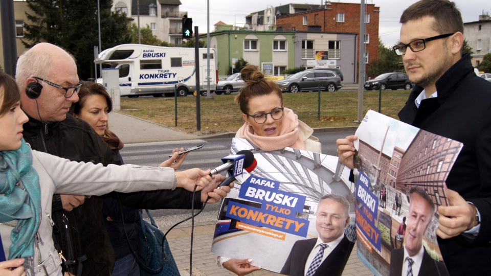
<svg viewBox="0 0 491 276"><path fill-rule="evenodd" d="M100 51L130 42L128 19L111 12L112 2L100 0ZM97 0L27 0L27 5L24 45L56 44L74 55L80 79L94 77L94 46L99 45Z"/></svg>

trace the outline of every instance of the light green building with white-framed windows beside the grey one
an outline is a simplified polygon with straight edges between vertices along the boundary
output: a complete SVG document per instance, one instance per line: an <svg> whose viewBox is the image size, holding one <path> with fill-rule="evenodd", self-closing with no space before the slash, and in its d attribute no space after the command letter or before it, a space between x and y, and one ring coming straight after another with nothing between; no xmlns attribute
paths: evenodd
<svg viewBox="0 0 491 276"><path fill-rule="evenodd" d="M269 75L280 75L286 68L295 67L295 32L234 29L220 21L210 33L210 48L216 49L219 75L231 74L239 58ZM206 34L199 35L199 39L206 40Z"/></svg>

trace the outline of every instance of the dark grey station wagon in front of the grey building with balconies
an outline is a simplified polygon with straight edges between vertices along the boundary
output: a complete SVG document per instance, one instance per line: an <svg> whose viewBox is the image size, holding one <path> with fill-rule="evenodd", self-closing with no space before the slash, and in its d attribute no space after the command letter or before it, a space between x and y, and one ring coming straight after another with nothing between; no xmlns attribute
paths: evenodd
<svg viewBox="0 0 491 276"><path fill-rule="evenodd" d="M297 93L299 91L317 91L321 83L322 91L337 91L343 87L341 77L332 71L302 71L284 79L276 81L282 92Z"/></svg>

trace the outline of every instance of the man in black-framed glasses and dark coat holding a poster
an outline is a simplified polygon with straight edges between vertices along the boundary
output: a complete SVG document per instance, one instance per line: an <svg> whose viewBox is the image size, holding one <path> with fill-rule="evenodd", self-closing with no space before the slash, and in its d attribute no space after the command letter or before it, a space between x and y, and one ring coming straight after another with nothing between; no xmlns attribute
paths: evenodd
<svg viewBox="0 0 491 276"><path fill-rule="evenodd" d="M416 86L399 119L464 144L447 178L451 206L439 206L438 243L452 275L491 275L491 83L462 57L463 22L455 3L422 0L400 17L399 44ZM356 136L339 139L352 168Z"/></svg>

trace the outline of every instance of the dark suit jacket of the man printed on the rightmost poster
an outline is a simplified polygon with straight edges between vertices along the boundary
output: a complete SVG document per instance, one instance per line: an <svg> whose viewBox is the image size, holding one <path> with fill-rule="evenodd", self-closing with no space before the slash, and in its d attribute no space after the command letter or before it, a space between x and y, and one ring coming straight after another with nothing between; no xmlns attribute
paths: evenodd
<svg viewBox="0 0 491 276"><path fill-rule="evenodd" d="M447 267L442 262L436 261L428 255L423 246L423 260L419 268L419 276L448 275ZM393 249L390 252L390 272L389 276L400 276L403 271L404 248Z"/></svg>

